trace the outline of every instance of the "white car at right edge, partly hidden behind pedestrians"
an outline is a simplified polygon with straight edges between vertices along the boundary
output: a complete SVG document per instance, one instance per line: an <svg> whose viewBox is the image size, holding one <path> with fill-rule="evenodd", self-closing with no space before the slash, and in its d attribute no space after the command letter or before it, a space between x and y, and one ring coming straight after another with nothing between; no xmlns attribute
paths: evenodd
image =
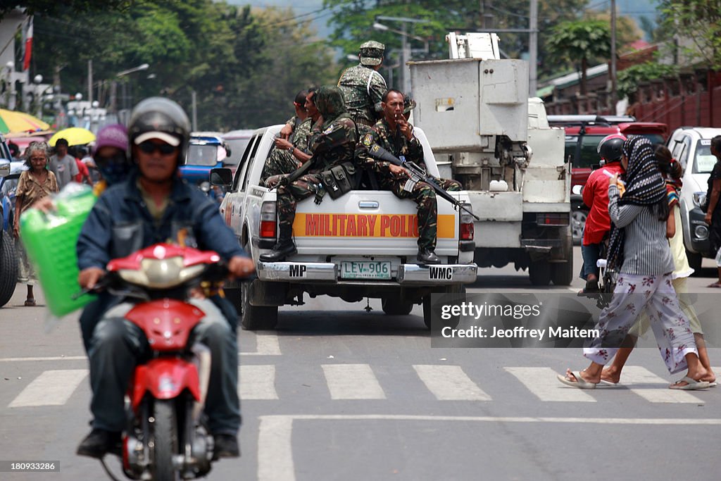
<svg viewBox="0 0 721 481"><path fill-rule="evenodd" d="M706 199L709 175L716 163L711 154L711 139L721 135L721 128L681 127L668 139L668 149L681 167L684 175L681 180L679 204L681 206L681 224L684 229L684 245L689 265L698 271L703 257L715 257L709 244L709 227L704 222L706 215L701 206Z"/></svg>

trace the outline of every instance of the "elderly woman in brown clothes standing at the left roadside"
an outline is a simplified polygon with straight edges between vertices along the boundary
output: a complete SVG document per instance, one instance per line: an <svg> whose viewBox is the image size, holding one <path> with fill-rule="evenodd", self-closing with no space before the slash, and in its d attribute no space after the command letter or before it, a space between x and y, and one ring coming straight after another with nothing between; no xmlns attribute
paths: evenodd
<svg viewBox="0 0 721 481"><path fill-rule="evenodd" d="M35 296L32 294L35 272L32 270L27 254L20 239L20 214L27 211L37 200L58 192L58 181L55 174L48 170L50 162L50 146L45 142L32 142L25 149L25 165L28 170L20 174L15 189L15 224L14 234L17 239L17 252L19 253L20 275L19 281L27 283L26 306L35 306Z"/></svg>

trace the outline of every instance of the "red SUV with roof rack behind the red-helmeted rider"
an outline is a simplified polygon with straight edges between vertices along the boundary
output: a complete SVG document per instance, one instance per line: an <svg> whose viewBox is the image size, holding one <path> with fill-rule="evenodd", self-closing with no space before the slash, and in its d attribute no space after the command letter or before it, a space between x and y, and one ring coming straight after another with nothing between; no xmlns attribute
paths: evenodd
<svg viewBox="0 0 721 481"><path fill-rule="evenodd" d="M553 115L549 115L549 123ZM575 116L561 116L575 117ZM601 121L598 121L600 119ZM650 139L653 144L663 144L668 127L664 123L621 122L626 118L601 118L593 121L581 121L563 125L566 131L566 159L571 163L571 231L573 242L580 244L585 226L586 211L581 209L583 198L580 189L585 185L594 167L598 167L598 144L611 133L623 133L626 136L640 135ZM555 122L559 125L558 120Z"/></svg>

